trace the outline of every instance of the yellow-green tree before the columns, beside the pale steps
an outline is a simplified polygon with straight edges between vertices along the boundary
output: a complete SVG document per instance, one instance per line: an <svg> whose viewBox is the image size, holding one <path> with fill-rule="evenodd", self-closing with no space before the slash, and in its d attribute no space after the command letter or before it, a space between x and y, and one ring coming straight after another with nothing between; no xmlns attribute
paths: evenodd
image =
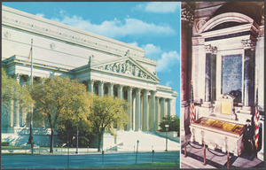
<svg viewBox="0 0 266 170"><path fill-rule="evenodd" d="M91 107L90 121L93 131L98 134L98 151L100 151L102 135L110 130L111 124L123 126L129 120L129 103L118 97L94 97Z"/></svg>

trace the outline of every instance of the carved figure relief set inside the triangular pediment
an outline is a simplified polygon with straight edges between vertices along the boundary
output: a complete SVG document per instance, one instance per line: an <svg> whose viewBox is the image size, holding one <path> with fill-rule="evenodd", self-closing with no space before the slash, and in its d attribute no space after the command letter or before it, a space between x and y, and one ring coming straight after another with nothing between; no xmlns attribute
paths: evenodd
<svg viewBox="0 0 266 170"><path fill-rule="evenodd" d="M129 62L129 60L124 62L112 63L106 66L98 66L96 68L113 73L123 73L147 80L153 80L150 75L142 71L138 66L133 65L131 62Z"/></svg>

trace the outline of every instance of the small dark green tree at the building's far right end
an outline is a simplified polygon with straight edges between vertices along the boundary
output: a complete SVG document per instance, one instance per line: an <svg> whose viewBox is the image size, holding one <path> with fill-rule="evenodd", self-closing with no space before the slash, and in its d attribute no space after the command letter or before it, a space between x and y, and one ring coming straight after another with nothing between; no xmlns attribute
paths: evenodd
<svg viewBox="0 0 266 170"><path fill-rule="evenodd" d="M179 132L179 129L180 129L179 117L177 115L176 116L167 115L163 117L159 125L161 132L166 132L165 125L169 125L168 131Z"/></svg>

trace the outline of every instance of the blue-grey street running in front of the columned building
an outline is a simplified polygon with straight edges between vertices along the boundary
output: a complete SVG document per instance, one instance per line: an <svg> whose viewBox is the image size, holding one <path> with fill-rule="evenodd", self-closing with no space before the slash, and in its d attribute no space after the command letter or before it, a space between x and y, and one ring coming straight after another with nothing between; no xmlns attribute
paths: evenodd
<svg viewBox="0 0 266 170"><path fill-rule="evenodd" d="M67 168L67 155L2 155L2 168ZM69 168L130 165L136 163L136 152L69 155ZM178 162L179 151L138 152L137 164L152 162ZM103 164L102 164L103 162Z"/></svg>

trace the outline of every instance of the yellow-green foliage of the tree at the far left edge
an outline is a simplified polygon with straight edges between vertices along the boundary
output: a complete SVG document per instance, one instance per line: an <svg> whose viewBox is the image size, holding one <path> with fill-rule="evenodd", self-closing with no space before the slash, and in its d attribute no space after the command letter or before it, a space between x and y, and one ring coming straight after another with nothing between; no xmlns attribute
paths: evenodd
<svg viewBox="0 0 266 170"><path fill-rule="evenodd" d="M30 96L28 86L21 86L18 81L6 74L2 68L2 106L8 110L12 100L20 104L22 112L30 112L30 106L34 104L34 100Z"/></svg>

